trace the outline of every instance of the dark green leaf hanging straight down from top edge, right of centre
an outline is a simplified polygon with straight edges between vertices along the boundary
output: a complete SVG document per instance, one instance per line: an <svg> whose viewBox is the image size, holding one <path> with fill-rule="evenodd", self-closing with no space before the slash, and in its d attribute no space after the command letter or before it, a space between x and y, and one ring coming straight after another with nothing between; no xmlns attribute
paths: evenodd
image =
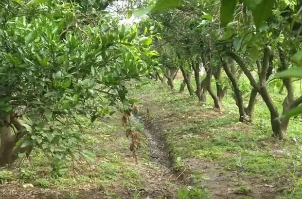
<svg viewBox="0 0 302 199"><path fill-rule="evenodd" d="M227 26L234 18L237 2L238 0L221 0L220 23L223 27Z"/></svg>

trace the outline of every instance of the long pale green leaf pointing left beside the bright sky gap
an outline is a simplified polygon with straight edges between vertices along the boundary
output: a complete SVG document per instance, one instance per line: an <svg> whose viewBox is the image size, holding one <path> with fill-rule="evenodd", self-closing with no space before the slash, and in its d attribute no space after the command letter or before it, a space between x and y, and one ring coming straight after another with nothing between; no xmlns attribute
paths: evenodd
<svg viewBox="0 0 302 199"><path fill-rule="evenodd" d="M142 17L143 15L161 11L166 8L181 6L180 0L161 0L159 3L150 5L145 8L139 8L133 12L134 17Z"/></svg>

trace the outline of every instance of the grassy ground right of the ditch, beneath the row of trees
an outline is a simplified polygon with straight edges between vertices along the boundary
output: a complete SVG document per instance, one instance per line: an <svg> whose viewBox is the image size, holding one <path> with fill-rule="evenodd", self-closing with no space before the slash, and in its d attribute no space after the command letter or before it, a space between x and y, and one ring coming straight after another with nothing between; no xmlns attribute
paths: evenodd
<svg viewBox="0 0 302 199"><path fill-rule="evenodd" d="M179 83L177 81L176 88ZM279 94L277 89L270 89L272 98L281 108L285 93ZM223 113L211 109L213 101L210 96L207 96L205 104L200 105L195 96L168 90L159 83L145 85L142 90L133 91L133 95L140 99L141 109L149 108L153 112L153 122L163 130L172 155L180 157L184 163L189 162L190 178L203 181L200 176L211 177L207 172L215 171L200 165L215 167L218 164L219 168L215 169L227 177L231 176L229 181L236 179L234 184L247 182L239 188L234 185L236 193L247 192L246 188L251 183L248 179L252 178L253 183L283 186L290 192L276 193L280 197L300 194L302 198L301 188L292 178L292 175L298 179L301 176L302 116L291 119L289 139L279 142L271 137L269 111L261 99L255 106L253 122L249 125L238 123L238 110L230 93L224 99ZM293 138L298 143L295 144ZM176 158L174 164L179 164ZM278 185L282 178L286 183ZM297 188L293 190L295 186ZM260 191L265 191L262 189ZM253 192L252 187L249 191Z"/></svg>

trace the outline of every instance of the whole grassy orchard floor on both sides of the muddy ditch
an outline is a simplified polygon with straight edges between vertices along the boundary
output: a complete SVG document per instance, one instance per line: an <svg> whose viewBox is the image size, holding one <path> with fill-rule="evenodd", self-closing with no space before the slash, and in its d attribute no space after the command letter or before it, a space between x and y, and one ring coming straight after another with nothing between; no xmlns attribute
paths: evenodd
<svg viewBox="0 0 302 199"><path fill-rule="evenodd" d="M176 81L176 88L179 84ZM285 93L280 95L274 88L271 92L281 107ZM168 90L159 83L132 90L131 95L140 100L141 113L146 114L147 108L151 110L151 121L160 129L158 133L163 133L173 168L180 176L162 177L165 170L150 162L148 140L141 133L142 123L134 125L142 142L136 164L121 115L114 114L94 123L78 118L86 141L81 150L92 151L95 162L68 159L69 171L63 177L51 178L52 167L47 156L36 150L30 159L18 161L16 169L2 169L0 182L31 183L67 191L68 198L77 199L85 198L78 191L83 189L113 199L141 199L146 197L145 192L163 199L167 190L178 199L211 199L220 193L233 194L231 198L260 199L268 192L277 199L302 198L302 116L291 119L289 139L280 142L271 137L269 112L262 100L255 107L252 124L238 122L231 90L224 99L223 112L212 109L210 96L201 105L195 96ZM298 142L293 142L293 138ZM191 182L192 186L178 187L176 178Z"/></svg>

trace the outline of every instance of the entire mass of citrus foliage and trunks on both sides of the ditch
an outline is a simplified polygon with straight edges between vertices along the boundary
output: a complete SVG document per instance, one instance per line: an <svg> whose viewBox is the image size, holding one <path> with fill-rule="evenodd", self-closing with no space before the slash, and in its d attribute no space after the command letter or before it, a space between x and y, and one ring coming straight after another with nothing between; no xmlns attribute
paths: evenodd
<svg viewBox="0 0 302 199"><path fill-rule="evenodd" d="M293 88L302 78L300 0L129 0L117 13L131 17L142 7L133 11L144 16L139 24L121 24L106 10L114 2L0 2L0 166L36 147L55 175L67 171L66 158L93 159L78 147L77 116L93 122L119 110L127 125L131 80L160 78L173 90L178 72L180 91L187 86L201 103L209 93L219 111L231 92L240 122L252 121L261 97L273 136L286 138L289 118L302 110ZM272 87L285 88L282 107ZM138 137L131 127L126 133L135 155Z"/></svg>

